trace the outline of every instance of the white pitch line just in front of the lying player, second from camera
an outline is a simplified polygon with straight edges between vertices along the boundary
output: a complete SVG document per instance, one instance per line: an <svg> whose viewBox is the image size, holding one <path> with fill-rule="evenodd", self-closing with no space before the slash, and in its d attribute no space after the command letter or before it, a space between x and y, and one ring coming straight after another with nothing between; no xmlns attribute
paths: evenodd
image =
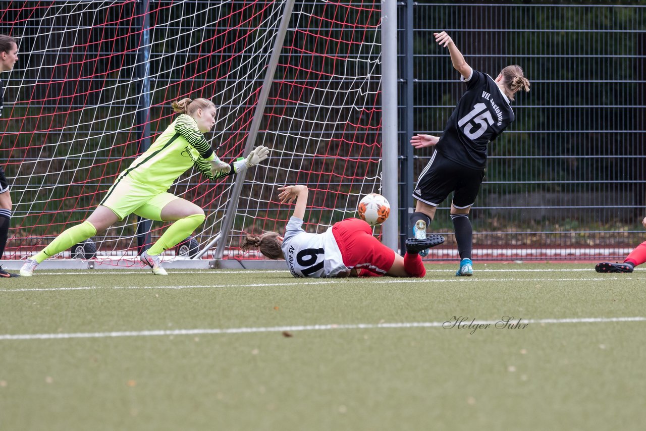
<svg viewBox="0 0 646 431"><path fill-rule="evenodd" d="M298 279L294 279L298 280ZM598 277L594 279L353 279L363 284L390 284L390 283L479 283L479 282L543 282L543 281L609 281L609 280L633 280L632 277ZM218 288L256 288L256 287L286 287L286 286L304 286L317 284L339 284L342 285L342 279L330 280L322 279L311 282L281 282L281 283L258 283L258 284L194 284L187 286L78 286L76 288L22 288L22 289L0 289L0 293L11 292L47 292L47 291L74 291L74 290L94 290L94 289L218 289Z"/></svg>

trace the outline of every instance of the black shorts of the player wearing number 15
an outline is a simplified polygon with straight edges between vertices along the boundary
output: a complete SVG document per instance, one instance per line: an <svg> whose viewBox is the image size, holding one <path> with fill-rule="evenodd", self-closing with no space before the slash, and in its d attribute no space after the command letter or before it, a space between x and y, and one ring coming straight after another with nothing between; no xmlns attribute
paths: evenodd
<svg viewBox="0 0 646 431"><path fill-rule="evenodd" d="M483 178L485 169L470 169L435 151L419 175L413 198L437 207L453 192L453 206L468 208L474 204Z"/></svg>

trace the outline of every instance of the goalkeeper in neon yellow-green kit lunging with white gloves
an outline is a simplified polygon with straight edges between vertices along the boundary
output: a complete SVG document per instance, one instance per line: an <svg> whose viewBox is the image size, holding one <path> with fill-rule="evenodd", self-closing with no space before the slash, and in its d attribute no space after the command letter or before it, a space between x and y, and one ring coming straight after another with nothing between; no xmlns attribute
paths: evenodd
<svg viewBox="0 0 646 431"><path fill-rule="evenodd" d="M194 165L207 178L217 180L253 167L269 154L269 149L261 146L244 160L221 162L204 138L204 133L215 125L215 105L206 99L183 99L172 103L172 109L182 114L117 177L87 220L63 231L43 251L25 260L20 275L30 277L43 260L93 237L131 213L174 222L141 254L141 262L150 266L152 273L167 275L161 268L161 253L191 235L205 218L198 205L167 193L178 176Z"/></svg>

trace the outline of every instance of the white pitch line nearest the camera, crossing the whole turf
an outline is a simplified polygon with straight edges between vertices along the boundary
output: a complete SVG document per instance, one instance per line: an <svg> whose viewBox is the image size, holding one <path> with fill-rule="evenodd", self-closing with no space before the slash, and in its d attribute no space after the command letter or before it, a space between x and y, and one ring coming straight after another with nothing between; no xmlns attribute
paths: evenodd
<svg viewBox="0 0 646 431"><path fill-rule="evenodd" d="M560 323L608 323L608 322L644 322L646 317L585 317L581 319L521 319L523 324L560 324ZM147 330L147 331L113 331L113 332L74 332L74 333L34 333L34 334L5 334L0 335L0 341L10 340L49 340L49 339L79 339L79 338L114 338L114 337L152 337L160 335L209 335L263 333L283 331L325 331L325 330L357 330L357 329L401 329L401 328L438 328L454 321L444 322L401 322L401 323L359 323L359 324L321 324L306 326L270 326L268 328L213 328L193 330ZM475 324L492 324L503 321L473 321ZM507 322L516 324L518 321ZM466 324L463 324L466 326Z"/></svg>

